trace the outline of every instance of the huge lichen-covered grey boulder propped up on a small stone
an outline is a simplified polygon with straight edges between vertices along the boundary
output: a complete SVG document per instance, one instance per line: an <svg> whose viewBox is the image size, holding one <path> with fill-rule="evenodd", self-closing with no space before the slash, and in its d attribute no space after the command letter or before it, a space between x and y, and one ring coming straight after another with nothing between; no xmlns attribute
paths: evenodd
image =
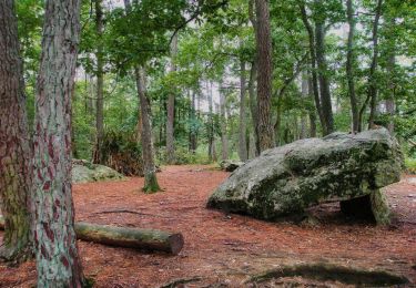
<svg viewBox="0 0 416 288"><path fill-rule="evenodd" d="M386 224L388 205L379 188L398 182L402 166L397 141L384 128L301 140L265 151L236 169L207 207L274 220L302 215L323 200L348 204L367 196L375 220ZM351 206L344 210L354 210Z"/></svg>

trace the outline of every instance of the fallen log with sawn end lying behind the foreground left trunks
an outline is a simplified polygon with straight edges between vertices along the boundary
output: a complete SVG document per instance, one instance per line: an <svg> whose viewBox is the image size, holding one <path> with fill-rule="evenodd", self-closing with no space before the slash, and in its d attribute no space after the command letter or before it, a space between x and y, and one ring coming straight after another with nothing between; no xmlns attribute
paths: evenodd
<svg viewBox="0 0 416 288"><path fill-rule="evenodd" d="M4 229L4 218L0 216L0 229ZM111 246L159 250L177 255L184 240L180 233L168 233L155 229L138 229L75 223L78 239Z"/></svg>

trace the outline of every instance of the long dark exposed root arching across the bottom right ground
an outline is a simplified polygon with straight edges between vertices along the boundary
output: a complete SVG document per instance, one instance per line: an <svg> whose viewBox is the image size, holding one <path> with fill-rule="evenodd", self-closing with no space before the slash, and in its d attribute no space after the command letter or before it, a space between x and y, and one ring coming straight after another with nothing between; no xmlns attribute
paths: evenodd
<svg viewBox="0 0 416 288"><path fill-rule="evenodd" d="M304 277L319 281L341 281L357 286L385 287L392 285L408 284L403 276L393 275L387 271L362 270L344 266L328 264L305 264L298 266L284 266L278 269L265 271L251 277L246 282L264 282L282 277Z"/></svg>

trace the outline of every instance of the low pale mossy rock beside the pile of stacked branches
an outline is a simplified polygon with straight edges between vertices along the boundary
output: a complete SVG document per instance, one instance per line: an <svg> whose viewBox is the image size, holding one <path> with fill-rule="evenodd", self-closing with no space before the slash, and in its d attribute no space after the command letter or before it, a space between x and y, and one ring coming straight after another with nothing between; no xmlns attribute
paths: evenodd
<svg viewBox="0 0 416 288"><path fill-rule="evenodd" d="M103 165L91 164L79 160L72 163L72 183L116 181L123 177L122 174Z"/></svg>

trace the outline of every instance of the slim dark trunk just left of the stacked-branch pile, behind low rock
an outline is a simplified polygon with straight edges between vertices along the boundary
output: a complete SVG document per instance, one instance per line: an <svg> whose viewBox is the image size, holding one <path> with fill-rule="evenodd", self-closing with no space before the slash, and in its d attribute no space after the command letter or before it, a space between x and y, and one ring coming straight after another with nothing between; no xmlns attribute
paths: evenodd
<svg viewBox="0 0 416 288"><path fill-rule="evenodd" d="M94 148L94 163L103 164L102 155L102 141L104 137L104 61L102 51L102 35L104 32L103 23L103 11L102 11L102 0L95 0L95 32L99 39L97 45L97 111L95 111L95 148Z"/></svg>

